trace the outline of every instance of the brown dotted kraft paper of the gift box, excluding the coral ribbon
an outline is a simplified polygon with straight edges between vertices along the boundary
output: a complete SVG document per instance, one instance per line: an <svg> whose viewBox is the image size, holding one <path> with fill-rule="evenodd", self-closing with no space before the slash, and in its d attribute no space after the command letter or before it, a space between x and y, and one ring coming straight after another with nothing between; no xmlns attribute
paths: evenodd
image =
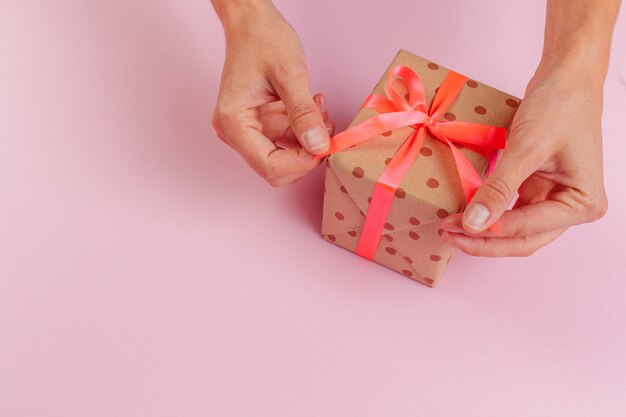
<svg viewBox="0 0 626 417"><path fill-rule="evenodd" d="M398 65L411 68L421 78L429 107L449 70L401 50L372 93L386 94L387 73ZM401 91L401 88L402 85L394 86L401 95L405 94L406 89ZM519 104L519 98L468 78L444 119L507 128ZM362 107L350 127L377 114ZM393 129L328 156L322 220L324 239L356 251L376 181L412 132L412 127ZM468 147L454 146L484 178L488 159ZM451 213L462 211L465 204L449 146L427 132L419 156L395 192L372 260L428 286L437 285L455 252L441 240L441 221Z"/></svg>

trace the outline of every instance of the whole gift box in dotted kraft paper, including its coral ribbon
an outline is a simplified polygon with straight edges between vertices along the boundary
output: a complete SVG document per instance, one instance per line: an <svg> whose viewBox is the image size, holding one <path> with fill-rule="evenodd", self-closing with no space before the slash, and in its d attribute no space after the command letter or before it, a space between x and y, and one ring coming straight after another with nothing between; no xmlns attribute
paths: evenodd
<svg viewBox="0 0 626 417"><path fill-rule="evenodd" d="M464 209L492 169L520 101L401 50L343 136L331 139L323 238L435 286L455 252L441 240L441 221ZM405 125L381 132L398 125L392 118Z"/></svg>

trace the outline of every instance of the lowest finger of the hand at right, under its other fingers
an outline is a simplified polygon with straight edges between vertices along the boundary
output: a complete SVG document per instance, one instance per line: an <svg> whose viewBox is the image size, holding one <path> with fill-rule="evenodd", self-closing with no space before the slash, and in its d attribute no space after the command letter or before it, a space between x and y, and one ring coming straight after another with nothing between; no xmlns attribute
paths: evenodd
<svg viewBox="0 0 626 417"><path fill-rule="evenodd" d="M559 237L566 228L517 237L471 237L445 231L443 241L472 256L530 256Z"/></svg>

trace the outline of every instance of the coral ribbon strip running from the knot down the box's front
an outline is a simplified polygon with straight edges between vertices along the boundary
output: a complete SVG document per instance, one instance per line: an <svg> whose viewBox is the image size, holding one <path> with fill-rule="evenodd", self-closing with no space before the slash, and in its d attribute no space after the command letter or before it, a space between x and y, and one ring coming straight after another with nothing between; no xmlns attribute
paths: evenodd
<svg viewBox="0 0 626 417"><path fill-rule="evenodd" d="M378 178L356 248L356 253L362 257L374 259L396 190L419 155L425 136L423 126L413 132Z"/></svg>

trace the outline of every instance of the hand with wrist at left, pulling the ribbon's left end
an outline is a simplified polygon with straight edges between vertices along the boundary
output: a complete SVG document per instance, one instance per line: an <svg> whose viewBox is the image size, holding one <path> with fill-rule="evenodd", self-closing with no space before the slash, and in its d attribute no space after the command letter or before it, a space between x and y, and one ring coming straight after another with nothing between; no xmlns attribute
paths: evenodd
<svg viewBox="0 0 626 417"><path fill-rule="evenodd" d="M274 186L315 168L334 124L326 100L311 96L302 44L270 1L214 5L226 33L213 126L219 138Z"/></svg>

